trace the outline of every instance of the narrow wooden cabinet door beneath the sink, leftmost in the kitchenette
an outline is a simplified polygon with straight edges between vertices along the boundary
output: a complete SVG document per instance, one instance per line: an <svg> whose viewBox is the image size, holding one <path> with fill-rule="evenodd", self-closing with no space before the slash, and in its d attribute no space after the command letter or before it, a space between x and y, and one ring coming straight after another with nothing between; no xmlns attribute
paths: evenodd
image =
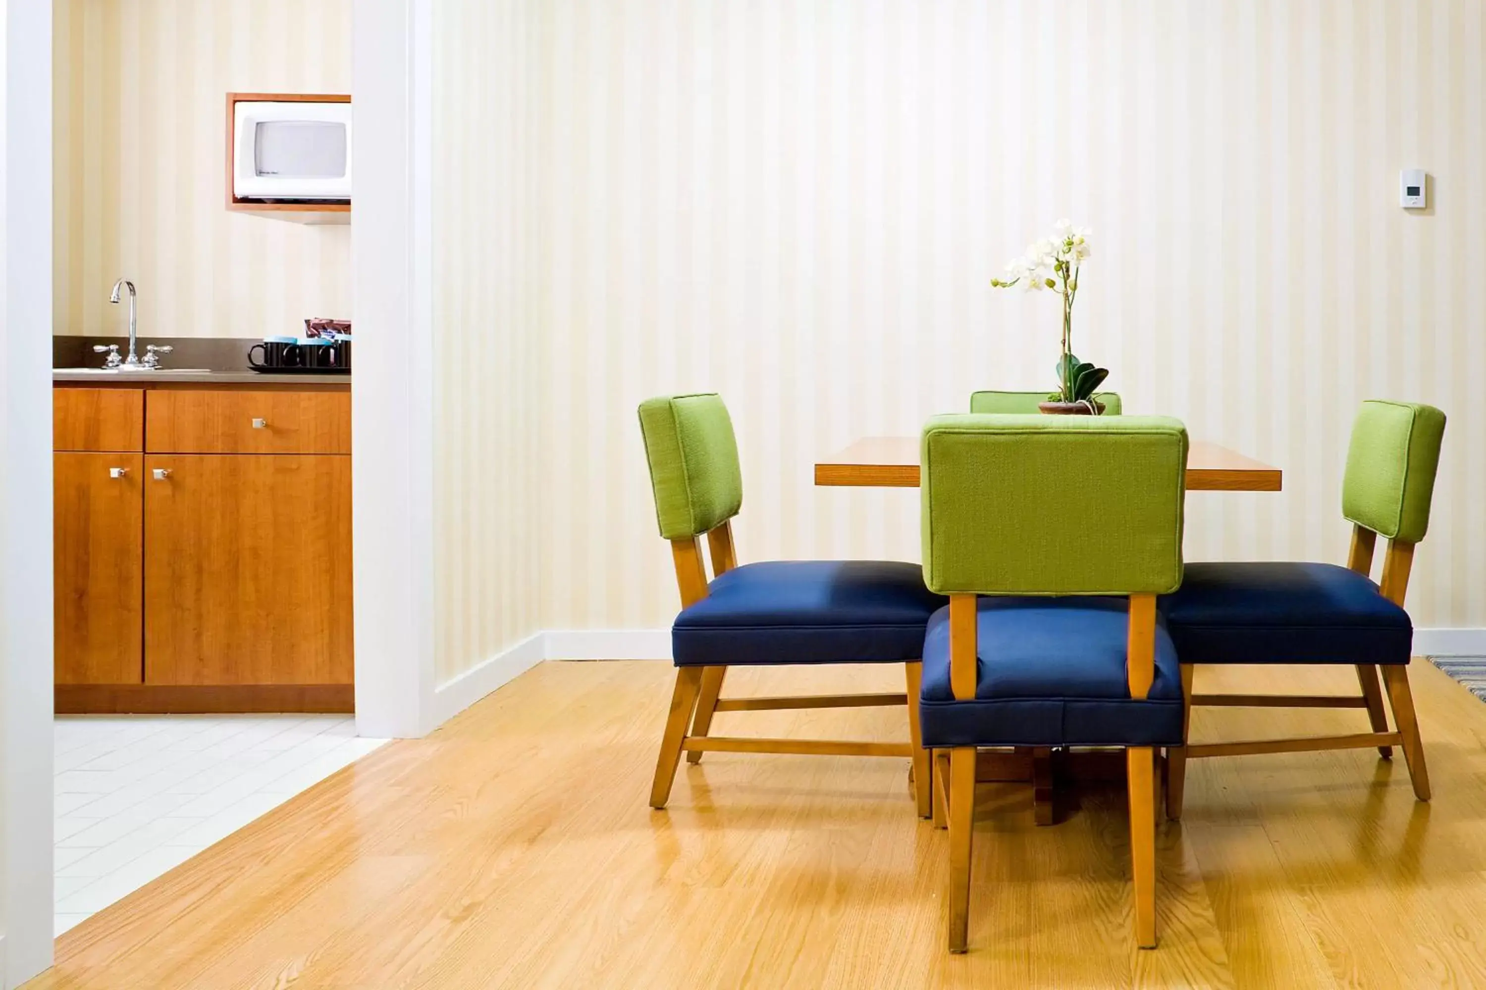
<svg viewBox="0 0 1486 990"><path fill-rule="evenodd" d="M58 684L144 677L143 454L52 454Z"/></svg>

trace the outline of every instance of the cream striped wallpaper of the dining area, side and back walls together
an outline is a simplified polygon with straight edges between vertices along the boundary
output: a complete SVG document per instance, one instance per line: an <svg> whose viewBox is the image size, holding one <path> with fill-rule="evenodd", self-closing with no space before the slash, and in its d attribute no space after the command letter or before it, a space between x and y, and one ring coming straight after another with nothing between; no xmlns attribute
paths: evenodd
<svg viewBox="0 0 1486 990"><path fill-rule="evenodd" d="M813 460L1048 386L1055 303L988 281L1060 217L1095 229L1076 347L1126 410L1285 471L1193 493L1190 560L1342 561L1357 404L1425 399L1452 419L1412 612L1486 626L1486 4L483 6L438 4L446 675L670 620L660 392L731 405L743 560L917 558L914 491Z"/></svg>

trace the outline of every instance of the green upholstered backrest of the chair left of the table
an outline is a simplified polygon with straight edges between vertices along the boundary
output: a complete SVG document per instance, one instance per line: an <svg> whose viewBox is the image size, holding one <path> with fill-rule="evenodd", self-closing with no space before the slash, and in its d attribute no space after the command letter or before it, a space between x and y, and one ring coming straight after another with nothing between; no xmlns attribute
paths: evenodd
<svg viewBox="0 0 1486 990"><path fill-rule="evenodd" d="M722 396L663 395L640 402L640 432L667 540L722 525L743 506L743 471Z"/></svg>

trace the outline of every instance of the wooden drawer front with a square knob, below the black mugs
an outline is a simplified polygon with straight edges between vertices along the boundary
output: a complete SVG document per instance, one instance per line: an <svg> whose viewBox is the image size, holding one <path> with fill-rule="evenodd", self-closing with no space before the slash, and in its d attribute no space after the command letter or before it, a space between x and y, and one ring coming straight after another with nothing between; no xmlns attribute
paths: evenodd
<svg viewBox="0 0 1486 990"><path fill-rule="evenodd" d="M146 450L158 454L349 454L349 392L152 390Z"/></svg>

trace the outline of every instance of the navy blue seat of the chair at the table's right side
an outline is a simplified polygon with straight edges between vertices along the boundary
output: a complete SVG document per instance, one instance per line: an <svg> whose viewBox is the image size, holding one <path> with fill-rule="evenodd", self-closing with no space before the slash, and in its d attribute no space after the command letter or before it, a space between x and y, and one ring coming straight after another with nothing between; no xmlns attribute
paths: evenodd
<svg viewBox="0 0 1486 990"><path fill-rule="evenodd" d="M1346 567L1187 564L1161 600L1183 663L1407 663L1409 613Z"/></svg>

